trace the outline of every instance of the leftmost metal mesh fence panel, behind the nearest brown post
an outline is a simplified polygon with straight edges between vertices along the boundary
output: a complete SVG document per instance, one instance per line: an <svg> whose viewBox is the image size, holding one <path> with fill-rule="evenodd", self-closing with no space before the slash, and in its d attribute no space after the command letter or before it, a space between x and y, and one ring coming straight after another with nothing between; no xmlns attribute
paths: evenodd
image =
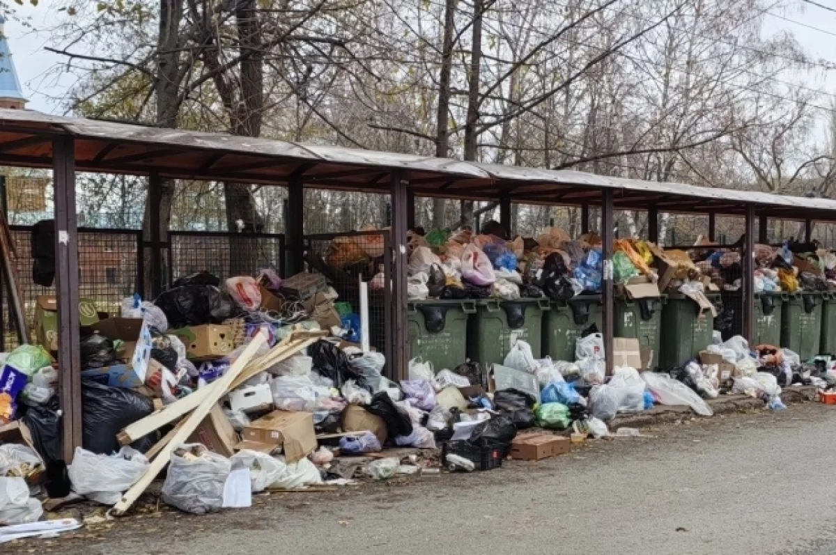
<svg viewBox="0 0 836 555"><path fill-rule="evenodd" d="M32 278L31 231L13 227L12 237L17 250L17 272L23 305L30 329L34 327L35 299L54 295L55 288L44 288ZM140 290L137 252L140 232L120 230L79 230L79 297L94 301L97 310L113 315L120 313L120 301ZM3 293L4 349L18 344L10 322L8 299ZM34 339L34 334L33 334Z"/></svg>

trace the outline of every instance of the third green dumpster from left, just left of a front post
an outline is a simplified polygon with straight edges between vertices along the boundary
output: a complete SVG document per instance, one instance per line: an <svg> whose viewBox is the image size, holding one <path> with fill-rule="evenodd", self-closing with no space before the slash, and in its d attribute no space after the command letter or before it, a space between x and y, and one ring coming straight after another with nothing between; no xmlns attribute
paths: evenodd
<svg viewBox="0 0 836 555"><path fill-rule="evenodd" d="M578 295L564 303L552 303L543 315L543 356L552 360L575 359L575 341L592 324L601 331L601 295Z"/></svg>

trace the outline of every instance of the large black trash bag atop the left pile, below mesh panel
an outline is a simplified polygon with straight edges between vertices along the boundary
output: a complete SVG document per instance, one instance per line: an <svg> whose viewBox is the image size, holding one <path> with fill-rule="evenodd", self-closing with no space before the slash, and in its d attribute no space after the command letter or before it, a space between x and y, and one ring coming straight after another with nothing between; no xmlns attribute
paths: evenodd
<svg viewBox="0 0 836 555"><path fill-rule="evenodd" d="M236 308L232 298L212 285L186 285L160 294L154 304L166 314L169 327L222 323Z"/></svg>

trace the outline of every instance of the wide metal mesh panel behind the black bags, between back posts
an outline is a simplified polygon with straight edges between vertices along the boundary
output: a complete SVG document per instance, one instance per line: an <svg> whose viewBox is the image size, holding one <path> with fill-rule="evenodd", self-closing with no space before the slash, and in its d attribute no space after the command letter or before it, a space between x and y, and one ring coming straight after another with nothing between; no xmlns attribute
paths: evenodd
<svg viewBox="0 0 836 555"><path fill-rule="evenodd" d="M169 283L194 272L211 272L222 280L252 275L265 267L283 273L284 236L242 233L171 232Z"/></svg>

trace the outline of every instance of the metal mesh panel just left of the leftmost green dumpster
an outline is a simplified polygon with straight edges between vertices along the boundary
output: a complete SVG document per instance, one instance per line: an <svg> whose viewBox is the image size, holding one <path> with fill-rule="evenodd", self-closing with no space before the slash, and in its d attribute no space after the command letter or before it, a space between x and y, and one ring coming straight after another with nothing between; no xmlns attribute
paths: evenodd
<svg viewBox="0 0 836 555"><path fill-rule="evenodd" d="M377 233L380 233L378 235ZM390 341L390 294L383 286L390 283L390 238L375 234L339 233L304 238L305 260L311 272L325 275L339 294L338 310L359 315L359 276L370 282L369 336L372 347L388 354ZM382 276L380 274L383 274ZM377 278L375 279L375 276Z"/></svg>

